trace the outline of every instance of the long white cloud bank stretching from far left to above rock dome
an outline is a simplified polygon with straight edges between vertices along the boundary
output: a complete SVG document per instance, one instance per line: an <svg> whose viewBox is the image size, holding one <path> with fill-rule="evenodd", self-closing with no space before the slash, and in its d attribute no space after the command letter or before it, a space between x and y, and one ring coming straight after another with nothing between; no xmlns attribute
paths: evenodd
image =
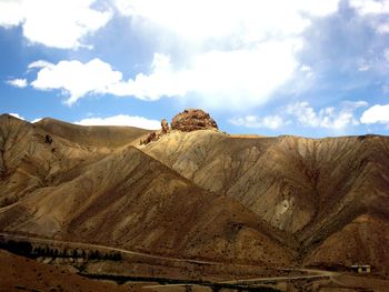
<svg viewBox="0 0 389 292"><path fill-rule="evenodd" d="M193 93L199 103L209 108L238 109L263 103L275 88L288 80L298 63L291 53L281 51L292 52L299 46L297 40L275 41L256 50L211 51L196 56L181 70L173 69L168 56L156 53L151 72L139 73L129 80L123 80L120 71L114 71L100 59L87 63L60 61L58 64L39 61L29 68L40 68L37 79L31 82L34 89L62 90L69 97L67 104L88 93L111 93L141 100Z"/></svg>

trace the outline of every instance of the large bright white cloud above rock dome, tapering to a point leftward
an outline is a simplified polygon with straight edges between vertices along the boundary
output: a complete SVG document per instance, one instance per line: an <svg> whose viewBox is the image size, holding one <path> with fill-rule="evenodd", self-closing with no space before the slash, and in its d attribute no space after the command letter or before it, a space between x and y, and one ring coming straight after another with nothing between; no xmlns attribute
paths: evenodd
<svg viewBox="0 0 389 292"><path fill-rule="evenodd" d="M200 105L238 110L266 102L298 63L299 40L269 41L255 49L196 54L188 67L174 69L168 56L154 54L151 73L112 85L117 95L143 100L194 94Z"/></svg>

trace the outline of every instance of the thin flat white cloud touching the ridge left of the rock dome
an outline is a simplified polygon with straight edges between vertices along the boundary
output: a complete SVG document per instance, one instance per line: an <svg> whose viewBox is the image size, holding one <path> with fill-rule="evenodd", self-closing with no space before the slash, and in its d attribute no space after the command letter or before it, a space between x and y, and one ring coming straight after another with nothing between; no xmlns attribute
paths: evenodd
<svg viewBox="0 0 389 292"><path fill-rule="evenodd" d="M118 114L109 118L88 118L74 123L82 125L128 125L149 130L161 128L161 123L157 120L126 114Z"/></svg>

